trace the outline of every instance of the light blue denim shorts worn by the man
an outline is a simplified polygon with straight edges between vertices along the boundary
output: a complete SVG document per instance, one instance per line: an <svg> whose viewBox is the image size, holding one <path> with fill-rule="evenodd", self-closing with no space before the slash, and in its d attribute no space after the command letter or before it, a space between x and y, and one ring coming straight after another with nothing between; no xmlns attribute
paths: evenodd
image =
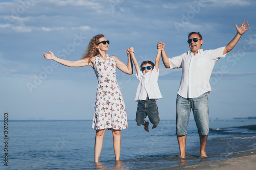
<svg viewBox="0 0 256 170"><path fill-rule="evenodd" d="M189 115L193 110L194 119L200 135L208 135L209 133L209 107L208 96L206 92L198 98L182 98L179 94L176 100L176 135L182 136L187 134L187 125L189 123Z"/></svg>

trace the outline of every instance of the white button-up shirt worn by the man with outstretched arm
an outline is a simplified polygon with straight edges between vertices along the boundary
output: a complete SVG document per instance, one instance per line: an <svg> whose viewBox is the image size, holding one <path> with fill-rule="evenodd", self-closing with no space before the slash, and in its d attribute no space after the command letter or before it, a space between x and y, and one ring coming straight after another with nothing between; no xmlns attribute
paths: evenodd
<svg viewBox="0 0 256 170"><path fill-rule="evenodd" d="M182 76L178 94L183 98L197 98L205 92L210 92L210 75L215 62L223 55L225 47L216 50L200 49L194 56L188 51L180 56L169 58L170 69L182 68Z"/></svg>

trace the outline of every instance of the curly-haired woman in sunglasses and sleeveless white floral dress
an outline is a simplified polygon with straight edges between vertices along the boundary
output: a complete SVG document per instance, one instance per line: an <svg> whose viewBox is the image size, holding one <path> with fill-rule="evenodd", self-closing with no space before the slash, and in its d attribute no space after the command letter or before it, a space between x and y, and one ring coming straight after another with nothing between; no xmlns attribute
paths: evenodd
<svg viewBox="0 0 256 170"><path fill-rule="evenodd" d="M127 128L125 105L118 83L116 81L116 67L126 74L133 74L130 53L126 51L128 62L125 65L116 56L109 56L105 52L109 50L109 41L104 35L94 36L83 59L69 61L57 58L52 52L44 53L48 60L54 60L69 67L82 67L90 65L98 79L97 94L94 107L92 128L96 130L94 161L99 161L105 130L112 130L115 159L120 159L121 130Z"/></svg>

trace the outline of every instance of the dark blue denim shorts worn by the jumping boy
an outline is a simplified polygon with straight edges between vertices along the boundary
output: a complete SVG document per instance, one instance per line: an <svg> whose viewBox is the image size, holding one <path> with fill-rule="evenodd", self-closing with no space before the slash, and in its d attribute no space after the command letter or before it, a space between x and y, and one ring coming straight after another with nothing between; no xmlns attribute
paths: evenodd
<svg viewBox="0 0 256 170"><path fill-rule="evenodd" d="M158 107L156 99L138 100L138 107L136 112L136 122L138 126L141 126L146 116L150 119L153 125L158 125L160 118L158 115Z"/></svg>

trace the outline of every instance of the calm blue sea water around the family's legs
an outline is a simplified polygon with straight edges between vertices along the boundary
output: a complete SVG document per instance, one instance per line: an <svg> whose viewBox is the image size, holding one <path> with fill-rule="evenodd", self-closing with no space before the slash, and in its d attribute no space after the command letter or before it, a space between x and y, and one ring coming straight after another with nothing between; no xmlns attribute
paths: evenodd
<svg viewBox="0 0 256 170"><path fill-rule="evenodd" d="M186 159L180 159L175 120L161 120L153 130L150 124L149 133L130 120L129 128L121 131L121 161L115 161L112 132L106 131L100 162L95 164L91 120L10 121L8 166L4 165L5 143L1 142L0 169L164 169L227 159L231 153L255 148L256 131L233 128L254 124L255 119L210 120L208 157L201 159L197 128L190 120Z"/></svg>

